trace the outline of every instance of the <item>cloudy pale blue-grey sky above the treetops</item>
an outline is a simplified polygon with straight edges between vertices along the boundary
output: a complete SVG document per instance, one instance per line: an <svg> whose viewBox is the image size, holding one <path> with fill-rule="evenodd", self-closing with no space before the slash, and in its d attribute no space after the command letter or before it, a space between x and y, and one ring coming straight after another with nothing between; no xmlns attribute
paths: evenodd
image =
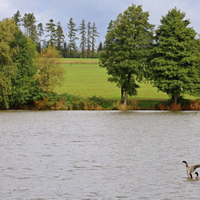
<svg viewBox="0 0 200 200"><path fill-rule="evenodd" d="M149 22L156 26L163 15L177 7L186 13L190 26L200 34L200 0L0 0L0 20L12 17L19 10L22 16L24 13L34 13L37 24L41 22L45 25L50 19L56 24L61 22L67 33L67 23L71 17L77 28L84 19L86 24L95 22L100 33L97 42L104 42L110 20L115 20L132 4L142 5L143 11L150 14Z"/></svg>

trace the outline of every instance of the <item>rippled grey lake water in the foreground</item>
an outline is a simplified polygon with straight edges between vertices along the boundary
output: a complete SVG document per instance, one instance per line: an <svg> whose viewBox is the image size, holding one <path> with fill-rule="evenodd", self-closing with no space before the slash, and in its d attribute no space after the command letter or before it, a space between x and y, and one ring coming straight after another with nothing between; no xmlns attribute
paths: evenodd
<svg viewBox="0 0 200 200"><path fill-rule="evenodd" d="M0 112L2 200L200 199L183 160L200 164L200 112Z"/></svg>

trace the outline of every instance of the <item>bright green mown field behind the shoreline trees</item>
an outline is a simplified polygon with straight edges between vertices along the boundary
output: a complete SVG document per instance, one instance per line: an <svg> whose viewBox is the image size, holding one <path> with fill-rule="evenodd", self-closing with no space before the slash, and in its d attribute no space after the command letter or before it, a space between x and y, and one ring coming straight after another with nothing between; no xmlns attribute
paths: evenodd
<svg viewBox="0 0 200 200"><path fill-rule="evenodd" d="M100 68L98 59L72 59L62 58L62 66L65 68L63 85L56 88L55 92L69 93L81 97L101 96L105 99L120 99L120 88L115 83L107 81L106 69ZM91 63L95 62L95 63ZM131 97L136 100L165 101L168 96L151 84L141 83L138 95ZM186 96L186 98L194 99Z"/></svg>

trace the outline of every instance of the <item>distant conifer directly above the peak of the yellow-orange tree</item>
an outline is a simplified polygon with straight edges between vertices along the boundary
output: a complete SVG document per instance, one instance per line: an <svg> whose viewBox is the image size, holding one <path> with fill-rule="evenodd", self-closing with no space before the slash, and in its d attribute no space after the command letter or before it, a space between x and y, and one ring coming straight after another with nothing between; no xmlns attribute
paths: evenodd
<svg viewBox="0 0 200 200"><path fill-rule="evenodd" d="M46 37L49 37L49 40L47 41L48 46L51 45L53 46L55 44L56 41L56 29L55 29L56 25L54 24L53 19L50 19L48 23L46 23L46 31L47 31L47 35Z"/></svg>

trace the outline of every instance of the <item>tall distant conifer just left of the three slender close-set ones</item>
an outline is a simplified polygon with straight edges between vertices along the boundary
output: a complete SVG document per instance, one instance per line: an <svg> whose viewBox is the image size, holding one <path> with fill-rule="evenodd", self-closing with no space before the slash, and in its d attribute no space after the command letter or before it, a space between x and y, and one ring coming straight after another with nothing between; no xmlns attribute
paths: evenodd
<svg viewBox="0 0 200 200"><path fill-rule="evenodd" d="M69 51L70 51L70 57L72 57L73 52L76 52L76 40L78 37L76 37L77 29L76 24L73 22L73 18L70 18L69 23L67 24L69 32L68 32L68 38L69 38Z"/></svg>

